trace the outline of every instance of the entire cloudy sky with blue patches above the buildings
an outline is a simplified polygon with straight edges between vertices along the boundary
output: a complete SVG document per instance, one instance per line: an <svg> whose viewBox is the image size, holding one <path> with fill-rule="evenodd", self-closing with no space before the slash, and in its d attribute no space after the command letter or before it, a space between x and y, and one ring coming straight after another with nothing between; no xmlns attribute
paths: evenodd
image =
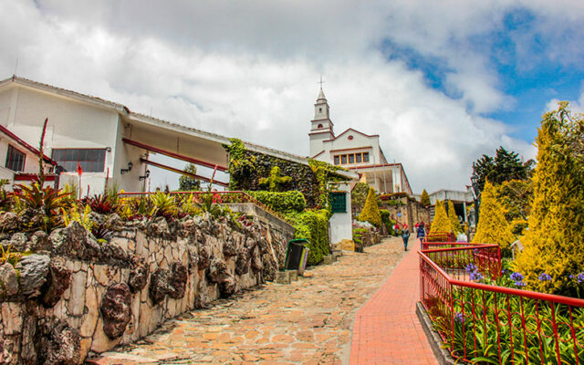
<svg viewBox="0 0 584 365"><path fill-rule="evenodd" d="M584 106L579 0L0 0L0 16L0 78L300 156L322 76L335 131L380 134L414 193L464 190L498 146L535 158L541 116Z"/></svg>

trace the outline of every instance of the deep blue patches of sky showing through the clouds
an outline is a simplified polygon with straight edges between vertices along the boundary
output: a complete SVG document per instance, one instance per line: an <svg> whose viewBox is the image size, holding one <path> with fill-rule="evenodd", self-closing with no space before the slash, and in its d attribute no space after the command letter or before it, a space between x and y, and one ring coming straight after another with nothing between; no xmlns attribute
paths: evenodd
<svg viewBox="0 0 584 365"><path fill-rule="evenodd" d="M581 55L562 59L554 57L551 49L562 47L565 42L579 42L575 38L581 33L560 30L558 34L546 34L537 28L538 21L529 9L516 8L505 12L500 24L491 31L468 38L467 49L488 59L489 72L497 79L497 89L507 99L495 110L479 114L505 122L510 127L509 135L524 141L534 141L537 123L548 109L549 101L578 100L584 80ZM581 46L584 47L584 42ZM442 57L424 55L391 39L384 39L381 49L388 59L401 60L408 68L421 71L429 87L450 98L461 98L458 90L446 85L446 74L455 69ZM472 105L468 108L472 110Z"/></svg>

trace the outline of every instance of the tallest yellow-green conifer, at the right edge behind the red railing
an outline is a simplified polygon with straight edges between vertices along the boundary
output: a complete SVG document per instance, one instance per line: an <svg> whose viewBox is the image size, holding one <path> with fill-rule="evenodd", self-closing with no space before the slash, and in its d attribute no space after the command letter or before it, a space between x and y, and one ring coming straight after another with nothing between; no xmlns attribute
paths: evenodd
<svg viewBox="0 0 584 365"><path fill-rule="evenodd" d="M570 275L584 271L584 118L560 102L544 115L536 143L533 204L516 269L532 289L573 296L578 283ZM551 285L538 280L542 273Z"/></svg>

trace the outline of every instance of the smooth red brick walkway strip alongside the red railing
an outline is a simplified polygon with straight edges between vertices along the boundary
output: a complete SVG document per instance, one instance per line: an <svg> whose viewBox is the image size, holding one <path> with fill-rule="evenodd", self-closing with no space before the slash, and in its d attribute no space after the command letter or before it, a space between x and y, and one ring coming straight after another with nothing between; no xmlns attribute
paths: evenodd
<svg viewBox="0 0 584 365"><path fill-rule="evenodd" d="M420 242L412 238L409 254L357 313L351 365L438 364L415 313L420 297Z"/></svg>

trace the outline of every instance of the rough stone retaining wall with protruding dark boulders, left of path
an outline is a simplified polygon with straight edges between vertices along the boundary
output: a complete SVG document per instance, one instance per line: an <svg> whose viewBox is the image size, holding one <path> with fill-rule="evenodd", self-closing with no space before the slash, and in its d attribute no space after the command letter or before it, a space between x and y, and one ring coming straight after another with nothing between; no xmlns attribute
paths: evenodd
<svg viewBox="0 0 584 365"><path fill-rule="evenodd" d="M1 217L0 217L1 218ZM111 218L110 218L111 219ZM218 297L273 280L294 229L255 218L120 223L98 242L77 222L2 245L35 252L0 266L0 364L77 364ZM24 251L24 250L23 250Z"/></svg>

